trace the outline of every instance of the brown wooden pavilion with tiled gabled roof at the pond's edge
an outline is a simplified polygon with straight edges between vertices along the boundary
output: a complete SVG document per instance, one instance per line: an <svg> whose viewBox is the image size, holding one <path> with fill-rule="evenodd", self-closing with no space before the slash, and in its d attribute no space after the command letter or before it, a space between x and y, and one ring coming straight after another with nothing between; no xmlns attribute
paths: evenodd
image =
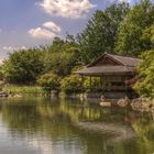
<svg viewBox="0 0 154 154"><path fill-rule="evenodd" d="M132 86L138 79L136 66L140 61L134 57L103 54L84 69L75 73L79 74L82 79L85 76L89 76L90 80L91 77L100 77L101 96L133 97Z"/></svg>

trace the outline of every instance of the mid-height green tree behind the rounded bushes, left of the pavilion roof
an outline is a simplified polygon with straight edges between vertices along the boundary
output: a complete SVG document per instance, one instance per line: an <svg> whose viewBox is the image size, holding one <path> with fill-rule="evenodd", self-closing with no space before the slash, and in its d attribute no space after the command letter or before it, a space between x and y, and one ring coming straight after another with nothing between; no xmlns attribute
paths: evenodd
<svg viewBox="0 0 154 154"><path fill-rule="evenodd" d="M53 44L44 47L45 73L52 72L58 76L69 75L80 62L80 48L73 35L66 40L55 37Z"/></svg>

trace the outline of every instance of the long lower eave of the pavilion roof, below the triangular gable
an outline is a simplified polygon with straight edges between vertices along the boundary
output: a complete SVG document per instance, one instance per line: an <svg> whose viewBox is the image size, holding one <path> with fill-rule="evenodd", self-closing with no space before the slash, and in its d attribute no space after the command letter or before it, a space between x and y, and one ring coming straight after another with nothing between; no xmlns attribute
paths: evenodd
<svg viewBox="0 0 154 154"><path fill-rule="evenodd" d="M98 66L98 67L87 67L75 73L80 75L81 74L100 75L100 74L134 73L134 72L135 72L135 67L130 67L130 66Z"/></svg>

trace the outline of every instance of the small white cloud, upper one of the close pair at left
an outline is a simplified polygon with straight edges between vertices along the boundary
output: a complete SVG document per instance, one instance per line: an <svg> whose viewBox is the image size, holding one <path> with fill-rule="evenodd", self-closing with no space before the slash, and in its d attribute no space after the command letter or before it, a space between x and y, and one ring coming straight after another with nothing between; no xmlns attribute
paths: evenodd
<svg viewBox="0 0 154 154"><path fill-rule="evenodd" d="M61 28L52 21L43 23L44 28L47 28L54 32L61 32Z"/></svg>

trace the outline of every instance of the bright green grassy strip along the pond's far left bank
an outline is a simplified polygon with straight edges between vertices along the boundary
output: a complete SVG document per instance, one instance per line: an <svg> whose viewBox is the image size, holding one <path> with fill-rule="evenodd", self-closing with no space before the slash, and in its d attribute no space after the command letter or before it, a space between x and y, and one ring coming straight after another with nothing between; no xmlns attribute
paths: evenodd
<svg viewBox="0 0 154 154"><path fill-rule="evenodd" d="M25 85L6 85L2 90L11 94L45 94L42 87Z"/></svg>

